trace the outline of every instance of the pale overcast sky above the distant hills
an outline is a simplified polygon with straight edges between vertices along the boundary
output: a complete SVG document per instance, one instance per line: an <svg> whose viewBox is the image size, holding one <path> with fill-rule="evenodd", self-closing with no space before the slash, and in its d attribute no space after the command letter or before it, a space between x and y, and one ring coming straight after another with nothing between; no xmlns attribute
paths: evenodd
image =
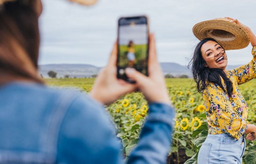
<svg viewBox="0 0 256 164"><path fill-rule="evenodd" d="M197 22L233 17L256 33L255 0L98 0L92 7L68 0L42 0L39 64L79 63L105 66L117 37L120 16L148 15L161 62L187 65L198 40ZM227 51L229 65L252 59L251 45Z"/></svg>

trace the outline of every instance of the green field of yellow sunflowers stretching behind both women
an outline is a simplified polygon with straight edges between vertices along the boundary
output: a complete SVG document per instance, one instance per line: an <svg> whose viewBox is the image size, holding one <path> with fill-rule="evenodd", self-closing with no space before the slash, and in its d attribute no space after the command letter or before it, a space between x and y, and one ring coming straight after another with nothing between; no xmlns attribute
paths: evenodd
<svg viewBox="0 0 256 164"><path fill-rule="evenodd" d="M49 86L76 87L89 92L94 79L47 79L46 82ZM176 108L171 152L167 163L196 164L197 153L208 134L202 95L197 93L192 79L166 79L166 85L171 102ZM248 104L248 121L256 124L256 79L240 85L239 88ZM106 110L116 123L116 136L120 138L124 156L127 157L136 146L140 128L147 116L147 101L140 92L134 92L106 106ZM256 142L247 141L246 144L243 161L245 164L256 164Z"/></svg>

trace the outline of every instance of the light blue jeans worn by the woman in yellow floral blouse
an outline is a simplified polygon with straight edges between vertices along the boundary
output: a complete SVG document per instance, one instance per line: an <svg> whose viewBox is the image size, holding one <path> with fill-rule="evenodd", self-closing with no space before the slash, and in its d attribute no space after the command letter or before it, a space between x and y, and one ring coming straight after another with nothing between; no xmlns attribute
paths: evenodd
<svg viewBox="0 0 256 164"><path fill-rule="evenodd" d="M245 138L228 134L208 134L198 154L198 164L242 164Z"/></svg>

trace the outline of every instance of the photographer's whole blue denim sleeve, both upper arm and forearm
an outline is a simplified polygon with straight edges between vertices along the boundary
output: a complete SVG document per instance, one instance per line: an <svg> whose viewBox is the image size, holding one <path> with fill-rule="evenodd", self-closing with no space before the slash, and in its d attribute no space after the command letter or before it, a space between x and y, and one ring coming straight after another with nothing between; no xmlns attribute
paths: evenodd
<svg viewBox="0 0 256 164"><path fill-rule="evenodd" d="M147 121L129 164L162 164L170 149L174 110L150 104ZM76 98L63 119L58 138L58 163L123 164L121 143L104 106L90 97Z"/></svg>

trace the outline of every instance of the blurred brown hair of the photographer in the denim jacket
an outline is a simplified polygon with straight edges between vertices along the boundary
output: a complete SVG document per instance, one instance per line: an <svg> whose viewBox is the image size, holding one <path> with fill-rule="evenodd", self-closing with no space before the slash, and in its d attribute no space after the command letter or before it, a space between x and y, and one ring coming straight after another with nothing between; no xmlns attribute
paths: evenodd
<svg viewBox="0 0 256 164"><path fill-rule="evenodd" d="M39 77L37 0L0 5L0 85L17 79L43 83Z"/></svg>

